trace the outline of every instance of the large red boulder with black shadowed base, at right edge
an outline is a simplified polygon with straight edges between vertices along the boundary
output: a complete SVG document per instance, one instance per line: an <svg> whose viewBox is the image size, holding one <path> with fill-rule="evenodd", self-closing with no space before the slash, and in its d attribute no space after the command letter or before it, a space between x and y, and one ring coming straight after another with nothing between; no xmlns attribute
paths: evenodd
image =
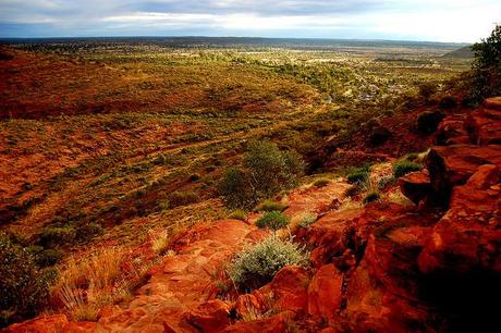
<svg viewBox="0 0 501 333"><path fill-rule="evenodd" d="M501 173L480 166L452 190L451 207L421 250L423 298L443 309L449 332L492 332L501 298Z"/></svg>

